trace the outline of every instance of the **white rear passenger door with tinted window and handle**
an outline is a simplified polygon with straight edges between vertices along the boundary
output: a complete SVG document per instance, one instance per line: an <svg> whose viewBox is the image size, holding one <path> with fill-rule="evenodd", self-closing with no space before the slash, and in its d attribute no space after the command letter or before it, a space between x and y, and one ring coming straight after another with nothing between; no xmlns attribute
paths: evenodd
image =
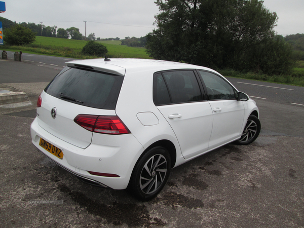
<svg viewBox="0 0 304 228"><path fill-rule="evenodd" d="M173 129L185 159L208 150L213 113L193 70L154 75L154 103Z"/></svg>

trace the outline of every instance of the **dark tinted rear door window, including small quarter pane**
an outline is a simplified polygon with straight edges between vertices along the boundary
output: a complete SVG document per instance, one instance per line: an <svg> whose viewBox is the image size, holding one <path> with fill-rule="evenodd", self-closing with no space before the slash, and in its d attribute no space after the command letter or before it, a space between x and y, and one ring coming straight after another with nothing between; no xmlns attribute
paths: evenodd
<svg viewBox="0 0 304 228"><path fill-rule="evenodd" d="M153 98L156 105L203 100L197 78L192 70L155 74Z"/></svg>

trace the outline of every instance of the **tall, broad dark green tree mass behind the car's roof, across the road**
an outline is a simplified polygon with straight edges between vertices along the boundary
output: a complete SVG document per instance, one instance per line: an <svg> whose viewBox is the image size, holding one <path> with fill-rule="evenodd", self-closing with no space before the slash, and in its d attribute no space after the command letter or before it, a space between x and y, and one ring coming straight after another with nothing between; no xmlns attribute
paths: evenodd
<svg viewBox="0 0 304 228"><path fill-rule="evenodd" d="M147 53L155 59L212 68L262 70L259 66L267 61L262 55L267 53L258 52L261 47L290 48L278 45L275 40L274 27L278 17L264 8L263 1L157 0L156 4L160 9L155 16L158 28L147 34L146 43ZM249 59L248 54L256 59ZM272 56L271 59L276 58ZM280 69L290 68L286 64Z"/></svg>

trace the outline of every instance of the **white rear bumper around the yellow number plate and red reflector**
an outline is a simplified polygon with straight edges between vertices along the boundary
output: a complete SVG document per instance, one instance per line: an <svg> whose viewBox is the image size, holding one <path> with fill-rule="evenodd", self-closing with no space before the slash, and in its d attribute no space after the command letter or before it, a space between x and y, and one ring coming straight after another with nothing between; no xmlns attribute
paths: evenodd
<svg viewBox="0 0 304 228"><path fill-rule="evenodd" d="M92 143L87 148L80 148L50 134L40 127L36 119L30 131L35 147L56 164L74 175L113 189L125 189L128 186L133 167L143 152L142 145L132 134L94 133ZM41 147L40 138L60 148L63 152L62 160ZM119 177L91 175L88 171L116 174Z"/></svg>

